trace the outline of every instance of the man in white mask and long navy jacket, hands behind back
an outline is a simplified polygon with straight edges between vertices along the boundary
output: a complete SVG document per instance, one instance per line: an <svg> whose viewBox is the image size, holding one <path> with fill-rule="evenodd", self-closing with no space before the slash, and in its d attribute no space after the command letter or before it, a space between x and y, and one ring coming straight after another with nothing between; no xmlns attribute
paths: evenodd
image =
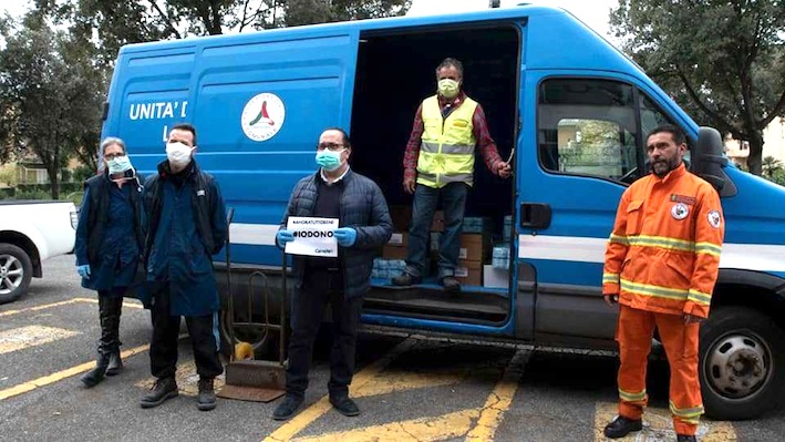
<svg viewBox="0 0 785 442"><path fill-rule="evenodd" d="M144 261L152 289L151 372L157 378L140 400L142 408L161 405L178 394L177 336L180 317L188 327L196 372L197 408L216 407L215 377L224 372L218 357L218 287L213 255L228 236L226 206L218 183L196 160L196 129L177 124L169 131L166 160L145 182Z"/></svg>

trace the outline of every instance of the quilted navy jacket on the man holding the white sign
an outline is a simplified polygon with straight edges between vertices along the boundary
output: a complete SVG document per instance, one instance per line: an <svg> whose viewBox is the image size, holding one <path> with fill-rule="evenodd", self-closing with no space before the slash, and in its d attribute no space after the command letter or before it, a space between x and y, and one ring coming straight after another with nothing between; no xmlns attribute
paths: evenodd
<svg viewBox="0 0 785 442"><path fill-rule="evenodd" d="M313 216L318 196L317 179L321 179L319 172L297 183L280 228L286 228L290 216ZM354 245L341 250L344 296L352 298L365 295L371 287L373 258L379 256L381 248L390 240L393 226L388 203L376 183L349 171L343 176L343 185L339 226L353 227L358 233ZM306 259L302 256L293 257L298 288L302 285Z"/></svg>

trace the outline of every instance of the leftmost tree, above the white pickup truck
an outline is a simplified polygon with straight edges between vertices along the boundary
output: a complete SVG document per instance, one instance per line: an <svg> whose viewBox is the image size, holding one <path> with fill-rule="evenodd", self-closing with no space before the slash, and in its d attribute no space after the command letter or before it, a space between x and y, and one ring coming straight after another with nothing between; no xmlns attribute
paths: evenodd
<svg viewBox="0 0 785 442"><path fill-rule="evenodd" d="M79 58L83 42L53 31L40 13L31 12L22 23L8 27L3 37L0 143L34 153L56 199L60 171L99 129L103 91L96 86L102 85L95 84L92 62Z"/></svg>

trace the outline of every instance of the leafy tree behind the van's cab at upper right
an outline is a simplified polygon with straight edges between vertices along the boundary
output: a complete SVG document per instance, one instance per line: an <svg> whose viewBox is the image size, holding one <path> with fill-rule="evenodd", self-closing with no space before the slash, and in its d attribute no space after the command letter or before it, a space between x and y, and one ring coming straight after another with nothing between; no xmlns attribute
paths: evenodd
<svg viewBox="0 0 785 442"><path fill-rule="evenodd" d="M611 27L699 124L747 141L750 172L763 172L763 129L785 114L785 1L619 0Z"/></svg>

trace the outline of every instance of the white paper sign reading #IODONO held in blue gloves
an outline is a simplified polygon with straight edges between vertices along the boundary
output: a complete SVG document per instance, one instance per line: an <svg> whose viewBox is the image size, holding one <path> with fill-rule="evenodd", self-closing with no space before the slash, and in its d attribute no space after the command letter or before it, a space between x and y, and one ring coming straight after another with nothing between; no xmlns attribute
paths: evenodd
<svg viewBox="0 0 785 442"><path fill-rule="evenodd" d="M338 218L310 218L292 216L286 228L295 240L286 244L286 253L321 257L337 257L338 241L332 230L338 228Z"/></svg>

